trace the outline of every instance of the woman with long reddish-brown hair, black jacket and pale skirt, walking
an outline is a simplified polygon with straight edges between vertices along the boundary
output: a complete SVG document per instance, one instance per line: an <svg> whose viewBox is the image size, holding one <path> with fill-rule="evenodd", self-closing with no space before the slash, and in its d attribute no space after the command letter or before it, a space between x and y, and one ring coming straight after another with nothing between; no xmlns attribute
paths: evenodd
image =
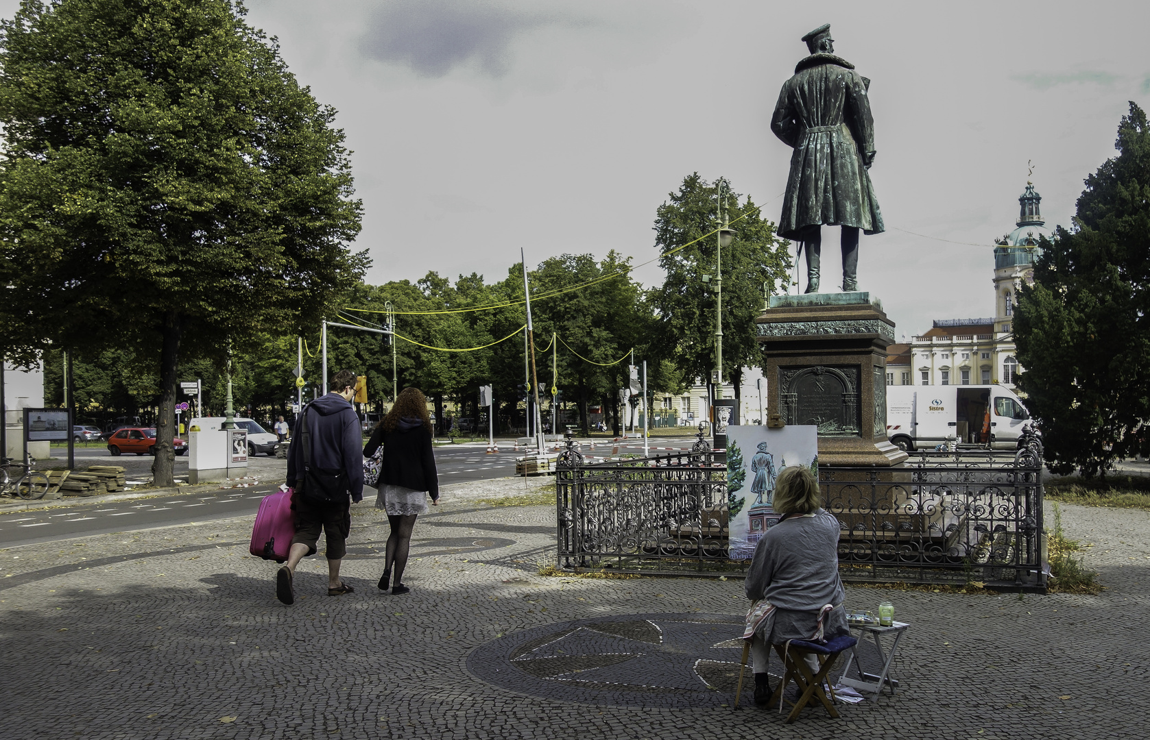
<svg viewBox="0 0 1150 740"><path fill-rule="evenodd" d="M415 517L427 514L428 494L431 506L439 506L439 477L431 453L431 419L427 396L419 388L400 391L391 410L371 432L363 448L365 457L374 455L381 445L383 461L375 508L388 512L391 534L378 586L379 591L386 591L394 572L391 593L406 594L411 588L402 583L404 568L407 566Z"/></svg>

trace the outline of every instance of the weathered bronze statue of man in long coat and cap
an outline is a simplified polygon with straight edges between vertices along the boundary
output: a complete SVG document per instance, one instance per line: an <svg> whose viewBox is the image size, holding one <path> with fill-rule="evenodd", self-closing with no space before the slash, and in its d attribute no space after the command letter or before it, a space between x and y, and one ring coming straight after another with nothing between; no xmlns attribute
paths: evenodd
<svg viewBox="0 0 1150 740"><path fill-rule="evenodd" d="M793 147L779 236L806 249L807 293L819 292L821 226L842 226L843 290L858 290L859 229L883 231L867 172L874 162L871 80L835 56L830 24L803 37L811 55L783 84L770 130Z"/></svg>

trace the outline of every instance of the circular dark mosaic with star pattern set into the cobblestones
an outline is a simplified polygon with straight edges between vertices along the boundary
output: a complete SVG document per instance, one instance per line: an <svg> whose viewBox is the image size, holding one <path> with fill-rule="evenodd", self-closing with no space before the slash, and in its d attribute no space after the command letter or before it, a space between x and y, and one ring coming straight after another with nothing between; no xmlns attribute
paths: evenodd
<svg viewBox="0 0 1150 740"><path fill-rule="evenodd" d="M545 699L716 707L733 700L742 634L743 617L731 615L576 619L492 640L471 652L467 668L488 683Z"/></svg>

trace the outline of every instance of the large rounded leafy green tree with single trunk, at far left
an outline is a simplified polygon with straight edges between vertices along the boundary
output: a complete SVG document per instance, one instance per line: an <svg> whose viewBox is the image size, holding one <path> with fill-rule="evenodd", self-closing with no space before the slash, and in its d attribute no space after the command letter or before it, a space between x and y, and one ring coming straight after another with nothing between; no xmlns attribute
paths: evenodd
<svg viewBox="0 0 1150 740"><path fill-rule="evenodd" d="M346 247L361 206L335 111L243 15L26 1L0 24L0 279L29 307L15 339L153 357L161 485L181 357L314 326L367 264Z"/></svg>

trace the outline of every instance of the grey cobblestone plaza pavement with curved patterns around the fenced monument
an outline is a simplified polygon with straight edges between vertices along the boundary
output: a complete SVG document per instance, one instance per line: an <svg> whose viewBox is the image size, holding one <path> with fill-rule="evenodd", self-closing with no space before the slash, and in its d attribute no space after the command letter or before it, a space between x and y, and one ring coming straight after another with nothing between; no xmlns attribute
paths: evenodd
<svg viewBox="0 0 1150 740"><path fill-rule="evenodd" d="M3 737L1144 737L1148 514L1061 511L1102 595L850 587L849 607L887 596L912 624L903 691L795 725L723 706L739 580L540 577L547 507L460 496L421 517L402 596L375 588L386 521L356 508L355 593L327 596L309 558L293 607L247 555L250 518L9 548Z"/></svg>

